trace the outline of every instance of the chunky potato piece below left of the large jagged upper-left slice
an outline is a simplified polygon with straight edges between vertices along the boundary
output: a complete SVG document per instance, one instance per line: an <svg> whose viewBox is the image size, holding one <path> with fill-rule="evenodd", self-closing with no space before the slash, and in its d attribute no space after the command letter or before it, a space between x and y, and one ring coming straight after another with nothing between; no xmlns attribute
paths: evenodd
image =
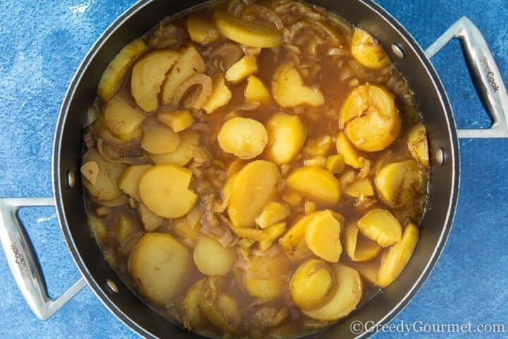
<svg viewBox="0 0 508 339"><path fill-rule="evenodd" d="M116 138L131 141L141 136L141 124L145 114L118 96L111 97L104 108L104 125Z"/></svg>

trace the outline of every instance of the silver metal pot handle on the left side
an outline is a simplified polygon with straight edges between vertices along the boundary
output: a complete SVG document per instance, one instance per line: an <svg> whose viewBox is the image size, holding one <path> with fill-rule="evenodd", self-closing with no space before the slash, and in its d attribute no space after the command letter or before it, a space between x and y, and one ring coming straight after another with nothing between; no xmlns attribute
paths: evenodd
<svg viewBox="0 0 508 339"><path fill-rule="evenodd" d="M0 240L8 266L28 306L39 319L47 320L85 287L86 283L80 278L60 297L49 297L32 242L18 218L19 209L29 206L54 206L54 199L0 198Z"/></svg>

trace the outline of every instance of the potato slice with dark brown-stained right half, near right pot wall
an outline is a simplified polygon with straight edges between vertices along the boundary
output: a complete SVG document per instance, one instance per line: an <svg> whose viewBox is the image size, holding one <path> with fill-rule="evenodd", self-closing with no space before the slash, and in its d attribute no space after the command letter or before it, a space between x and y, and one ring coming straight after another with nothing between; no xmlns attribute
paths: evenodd
<svg viewBox="0 0 508 339"><path fill-rule="evenodd" d="M405 160L382 167L375 176L375 186L385 203L407 206L425 191L425 180L418 162Z"/></svg>

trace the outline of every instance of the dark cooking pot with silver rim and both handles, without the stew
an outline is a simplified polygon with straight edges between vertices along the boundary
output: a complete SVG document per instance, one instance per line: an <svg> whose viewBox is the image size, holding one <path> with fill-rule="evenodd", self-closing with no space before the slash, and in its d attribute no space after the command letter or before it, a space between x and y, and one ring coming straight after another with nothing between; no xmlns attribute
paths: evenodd
<svg viewBox="0 0 508 339"><path fill-rule="evenodd" d="M162 18L193 6L203 6L203 3L198 0L142 0L107 28L79 66L63 100L54 139L54 197L0 198L1 243L23 297L40 319L48 319L81 288L89 285L115 316L143 337L198 337L158 316L104 261L95 239L90 236L83 188L78 180L86 107L92 104L97 83L109 61L123 46L143 35ZM442 252L459 194L457 138L507 138L508 96L483 36L468 18L459 19L424 52L397 20L371 0L314 0L313 3L365 28L380 40L411 83L428 129L432 175L421 237L411 261L392 285L321 334L322 338L367 338L373 333L370 328L352 333L351 323L370 321L379 326L388 323L418 292ZM447 95L430 64L429 58L453 37L461 40L473 83L492 118L489 129L456 130ZM18 218L18 210L24 206L56 206L68 249L83 275L59 298L48 296L37 256Z"/></svg>

